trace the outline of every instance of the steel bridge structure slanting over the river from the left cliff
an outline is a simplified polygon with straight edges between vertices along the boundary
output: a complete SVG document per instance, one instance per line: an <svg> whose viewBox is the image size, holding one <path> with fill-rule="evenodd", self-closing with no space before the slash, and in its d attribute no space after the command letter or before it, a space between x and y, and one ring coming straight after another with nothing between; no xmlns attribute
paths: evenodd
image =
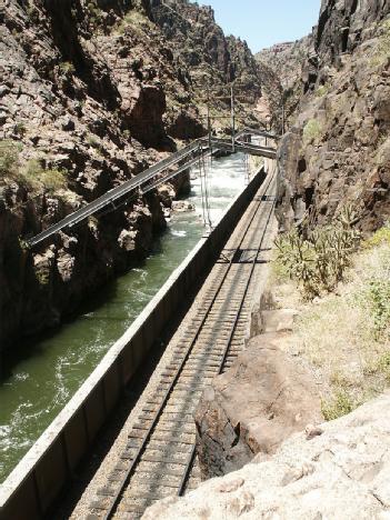
<svg viewBox="0 0 390 520"><path fill-rule="evenodd" d="M139 173L134 178L123 182L122 184L109 190L103 196L99 197L94 201L86 204L79 210L70 213L64 219L50 226L48 229L41 231L39 234L28 240L30 247L34 247L42 243L53 234L66 228L72 228L78 223L86 220L88 217L98 213L100 210L107 207L113 207L116 209L116 202L119 202L126 196L132 192L144 194L160 184L163 184L168 180L177 177L183 171L188 170L193 166L201 156L209 156L216 150L230 150L241 151L244 153L261 156L269 159L276 158L276 149L272 147L264 147L250 142L252 136L278 139L269 132L261 130L244 129L236 136L236 139L216 139L216 138L202 138L197 139L192 143L182 148L181 150L172 153L167 159L153 164L143 172Z"/></svg>

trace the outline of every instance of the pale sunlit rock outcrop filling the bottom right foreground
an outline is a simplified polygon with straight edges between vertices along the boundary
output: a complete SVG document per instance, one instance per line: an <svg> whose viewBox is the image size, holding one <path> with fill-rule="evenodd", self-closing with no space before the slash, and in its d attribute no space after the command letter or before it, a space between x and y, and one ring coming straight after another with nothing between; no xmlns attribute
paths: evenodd
<svg viewBox="0 0 390 520"><path fill-rule="evenodd" d="M143 520L376 519L390 514L390 393L290 437L267 461L150 507Z"/></svg>

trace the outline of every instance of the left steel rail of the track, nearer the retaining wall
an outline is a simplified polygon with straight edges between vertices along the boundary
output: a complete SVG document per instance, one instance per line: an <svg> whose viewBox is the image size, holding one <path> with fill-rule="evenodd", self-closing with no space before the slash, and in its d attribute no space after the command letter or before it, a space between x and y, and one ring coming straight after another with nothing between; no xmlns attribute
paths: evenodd
<svg viewBox="0 0 390 520"><path fill-rule="evenodd" d="M267 181L267 186L264 187L264 190L263 190L264 192L269 189L273 178L274 178L274 173L272 173L270 179ZM254 208L254 210L252 211L252 214L251 214L251 217L249 219L249 222L246 226L244 232L243 232L243 234L242 234L242 237L240 239L240 242L239 242L239 244L238 244L238 247L236 248L234 251L238 251L238 250L241 249L241 246L242 246L244 239L247 238L247 234L248 234L248 232L249 232L249 230L250 230L250 228L252 226L252 222L253 222L254 218L257 217L260 208L262 208L262 202L263 202L262 197L260 197L260 200L259 200L257 207ZM146 451L146 448L147 448L147 446L148 446L148 443L149 443L149 441L151 439L151 436L152 436L153 431L156 430L156 427L158 426L159 420L160 420L160 418L161 418L161 416L162 416L162 413L163 413L163 411L164 411L164 409L167 407L169 398L172 394L172 391L173 391L176 384L178 383L178 381L180 379L180 376L181 376L181 373L182 373L182 371L183 371L183 369L184 369L184 367L186 367L186 364L187 364L187 362L188 362L188 360L189 360L189 358L190 358L190 356L192 353L192 350L193 350L193 348L194 348L194 346L197 343L197 340L199 339L199 336L200 336L200 333L201 333L201 331L202 331L202 329L204 327L204 323L207 322L207 320L208 320L208 318L210 316L210 312L211 312L211 310L212 310L212 308L213 308L213 306L214 306L214 303L217 301L217 298L220 294L221 289L222 289L224 282L226 282L226 279L227 279L228 274L230 273L231 267L232 267L232 264L234 262L234 256L236 254L233 253L231 256L230 260L229 260L229 264L227 266L226 272L223 273L221 280L219 281L217 290L214 291L211 301L207 306L207 310L206 310L199 326L197 327L197 331L194 333L194 337L192 338L190 344L188 346L187 352L186 352L183 359L181 360L180 366L177 369L177 371L176 371L176 373L174 373L174 376L173 376L173 378L172 378L172 380L171 380L171 382L169 384L169 388L164 392L162 401L159 404L159 408L154 413L152 422L149 426L146 434L143 436L142 442L141 442L140 447L137 449L137 453L134 454L133 459L131 460L131 463L130 463L129 468L127 468L123 478L120 480L120 483L119 483L119 487L118 487L119 489L118 489L118 491L116 491L114 496L112 497L113 500L111 501L109 507L104 510L104 516L102 517L104 520L109 520L109 519L111 519L113 517L113 514L116 513L116 511L118 509L118 506L121 502L123 492L126 491L126 488L128 487L128 484L130 482L130 479L131 479L132 474L134 473L134 470L136 470L138 463L140 462L140 459L141 459L142 454ZM242 307L240 306L240 309ZM188 479L188 477L190 474L190 471L191 471L190 464L193 463L193 459L194 459L194 453L193 453L193 450L191 450L191 456L189 458L189 461L186 463L186 470L183 472L183 478L182 478L180 489L179 489L179 491L181 491L181 492L183 492L184 489L186 489L186 482L187 482L187 479Z"/></svg>

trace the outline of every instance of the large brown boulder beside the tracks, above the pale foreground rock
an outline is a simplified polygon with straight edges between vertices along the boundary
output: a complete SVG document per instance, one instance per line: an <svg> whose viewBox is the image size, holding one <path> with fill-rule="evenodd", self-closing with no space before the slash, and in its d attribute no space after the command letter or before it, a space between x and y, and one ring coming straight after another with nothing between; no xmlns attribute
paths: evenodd
<svg viewBox="0 0 390 520"><path fill-rule="evenodd" d="M294 431L322 420L314 383L272 341L253 338L232 368L217 377L196 412L203 478L269 456Z"/></svg>

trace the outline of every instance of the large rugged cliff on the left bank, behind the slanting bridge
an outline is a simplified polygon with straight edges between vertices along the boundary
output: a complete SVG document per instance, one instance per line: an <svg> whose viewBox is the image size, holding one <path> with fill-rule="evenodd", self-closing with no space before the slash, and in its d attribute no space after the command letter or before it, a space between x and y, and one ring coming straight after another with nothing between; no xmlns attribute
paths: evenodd
<svg viewBox="0 0 390 520"><path fill-rule="evenodd" d="M173 139L204 133L189 61L153 20L148 0L0 8L0 350L59 323L143 258L166 226L166 197L154 193L26 248L28 237L173 151ZM193 59L222 74L240 66L241 51L233 63L218 38ZM188 178L174 182L180 189Z"/></svg>

